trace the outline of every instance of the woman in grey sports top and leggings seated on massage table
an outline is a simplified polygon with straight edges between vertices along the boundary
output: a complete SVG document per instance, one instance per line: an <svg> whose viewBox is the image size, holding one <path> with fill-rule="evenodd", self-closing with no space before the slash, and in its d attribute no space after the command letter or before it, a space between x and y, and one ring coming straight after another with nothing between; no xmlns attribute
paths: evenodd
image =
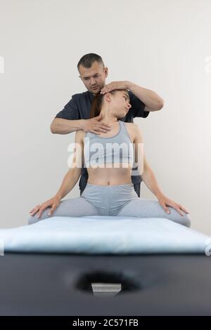
<svg viewBox="0 0 211 330"><path fill-rule="evenodd" d="M76 132L75 154L70 170L56 195L30 211L32 218L36 213L39 220L49 216L155 217L190 226L190 216L184 206L167 198L158 187L143 155L139 126L119 120L126 116L130 107L127 90L96 95L90 117L100 115L100 120L111 126L110 131L100 135L82 130ZM120 145L124 147L121 149ZM92 156L91 152L94 152ZM84 192L80 197L60 202L79 180L82 164L87 166L89 174ZM134 164L138 164L138 174L158 201L137 197L131 180ZM32 218L30 223L37 221L37 218Z"/></svg>

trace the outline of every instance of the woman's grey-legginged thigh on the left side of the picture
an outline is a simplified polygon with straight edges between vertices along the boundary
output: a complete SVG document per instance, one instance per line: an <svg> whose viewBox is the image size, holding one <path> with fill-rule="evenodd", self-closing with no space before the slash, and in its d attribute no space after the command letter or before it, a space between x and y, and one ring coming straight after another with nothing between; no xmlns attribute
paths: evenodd
<svg viewBox="0 0 211 330"><path fill-rule="evenodd" d="M98 216L98 211L90 204L84 197L65 199L60 202L56 210L51 216L48 216L51 207L47 207L42 213L40 218L37 214L28 219L28 224L37 223L39 220L51 218L52 216Z"/></svg>

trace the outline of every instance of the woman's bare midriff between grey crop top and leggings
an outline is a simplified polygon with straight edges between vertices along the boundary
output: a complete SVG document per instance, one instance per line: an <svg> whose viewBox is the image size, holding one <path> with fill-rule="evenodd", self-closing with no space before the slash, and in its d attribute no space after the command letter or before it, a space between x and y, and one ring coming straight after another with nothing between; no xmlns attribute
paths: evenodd
<svg viewBox="0 0 211 330"><path fill-rule="evenodd" d="M105 168L87 169L89 174L88 183L90 185L124 185L132 183L132 169L127 165L127 168L122 168L122 164L107 164ZM108 168L113 166L113 168ZM114 166L119 166L114 168Z"/></svg>

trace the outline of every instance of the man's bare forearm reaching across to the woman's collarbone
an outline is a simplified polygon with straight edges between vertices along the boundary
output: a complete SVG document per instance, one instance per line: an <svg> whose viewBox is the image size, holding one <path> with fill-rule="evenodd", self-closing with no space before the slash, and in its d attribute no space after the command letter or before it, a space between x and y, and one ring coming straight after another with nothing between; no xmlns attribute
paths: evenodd
<svg viewBox="0 0 211 330"><path fill-rule="evenodd" d="M54 118L51 123L51 133L68 134L82 129L84 119L70 120L63 118Z"/></svg>

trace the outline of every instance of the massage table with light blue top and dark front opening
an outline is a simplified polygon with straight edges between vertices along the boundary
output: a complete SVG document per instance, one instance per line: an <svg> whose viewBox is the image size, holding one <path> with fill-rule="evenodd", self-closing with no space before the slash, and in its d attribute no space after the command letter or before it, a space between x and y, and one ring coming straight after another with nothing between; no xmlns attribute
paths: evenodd
<svg viewBox="0 0 211 330"><path fill-rule="evenodd" d="M0 315L210 315L210 237L165 218L0 230Z"/></svg>

